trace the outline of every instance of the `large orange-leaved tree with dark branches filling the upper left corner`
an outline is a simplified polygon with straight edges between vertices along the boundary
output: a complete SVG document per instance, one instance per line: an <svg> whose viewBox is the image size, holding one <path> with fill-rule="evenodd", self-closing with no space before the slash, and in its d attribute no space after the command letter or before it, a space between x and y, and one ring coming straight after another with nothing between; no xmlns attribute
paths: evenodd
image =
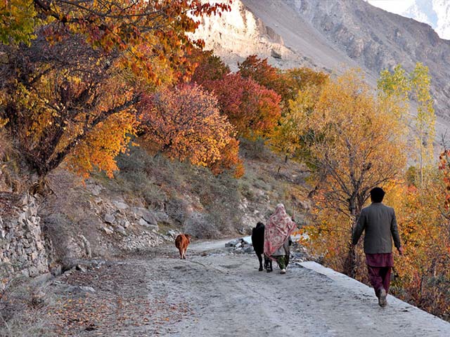
<svg viewBox="0 0 450 337"><path fill-rule="evenodd" d="M142 93L193 71L186 54L202 41L186 35L198 26L191 14L226 9L200 0L6 1L0 118L40 176L69 158L79 171L111 173Z"/></svg>

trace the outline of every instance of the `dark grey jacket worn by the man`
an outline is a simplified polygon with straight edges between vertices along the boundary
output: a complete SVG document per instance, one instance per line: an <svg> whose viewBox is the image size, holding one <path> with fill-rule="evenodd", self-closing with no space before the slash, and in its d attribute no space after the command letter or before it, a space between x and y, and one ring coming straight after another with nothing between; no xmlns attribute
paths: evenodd
<svg viewBox="0 0 450 337"><path fill-rule="evenodd" d="M353 232L353 244L358 243L364 230L364 253L392 253L392 238L397 249L401 246L394 209L380 202L362 209Z"/></svg>

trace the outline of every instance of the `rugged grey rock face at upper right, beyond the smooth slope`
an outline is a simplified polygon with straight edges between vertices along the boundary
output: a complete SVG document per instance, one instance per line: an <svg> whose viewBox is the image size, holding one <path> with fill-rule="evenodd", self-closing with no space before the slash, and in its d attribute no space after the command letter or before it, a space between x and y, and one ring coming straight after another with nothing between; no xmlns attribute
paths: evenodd
<svg viewBox="0 0 450 337"><path fill-rule="evenodd" d="M255 3L255 1L252 1ZM428 25L375 8L365 1L286 0L302 20L318 29L331 44L377 77L398 63L411 70L416 62L430 68L432 95L441 125L448 124L450 41Z"/></svg>

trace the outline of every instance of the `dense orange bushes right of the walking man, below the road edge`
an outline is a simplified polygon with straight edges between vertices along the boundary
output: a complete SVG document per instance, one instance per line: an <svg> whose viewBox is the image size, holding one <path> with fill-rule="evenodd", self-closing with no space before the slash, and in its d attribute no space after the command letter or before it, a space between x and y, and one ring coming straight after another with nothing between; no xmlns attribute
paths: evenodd
<svg viewBox="0 0 450 337"><path fill-rule="evenodd" d="M442 209L444 184L440 173L425 188L397 186L388 195L396 208L404 256L396 256L399 278L392 291L434 315L450 318L450 232Z"/></svg>

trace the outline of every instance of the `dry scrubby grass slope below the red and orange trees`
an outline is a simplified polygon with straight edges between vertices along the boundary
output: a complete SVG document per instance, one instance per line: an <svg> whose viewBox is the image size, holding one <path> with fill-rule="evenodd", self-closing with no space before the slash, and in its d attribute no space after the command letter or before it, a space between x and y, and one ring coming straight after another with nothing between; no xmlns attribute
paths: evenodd
<svg viewBox="0 0 450 337"><path fill-rule="evenodd" d="M129 155L118 159L120 172L115 180L102 183L108 189L144 199L149 209L165 211L180 230L198 237L242 232L243 199L249 201L248 211L261 213L264 218L279 202L288 211L299 213L298 189L304 188L306 174L303 166L293 161L285 163L261 140L244 140L241 155L246 171L243 178L236 180L229 174L214 176L205 168L153 157L134 147Z"/></svg>

